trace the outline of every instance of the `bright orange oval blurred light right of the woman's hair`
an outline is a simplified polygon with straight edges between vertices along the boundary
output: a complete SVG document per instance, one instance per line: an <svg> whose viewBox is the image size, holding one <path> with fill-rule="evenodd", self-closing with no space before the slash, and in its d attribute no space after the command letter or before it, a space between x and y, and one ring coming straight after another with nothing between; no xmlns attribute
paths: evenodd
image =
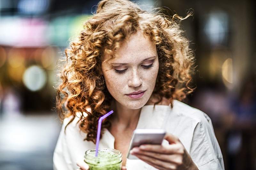
<svg viewBox="0 0 256 170"><path fill-rule="evenodd" d="M224 61L221 67L221 73L224 80L226 80L228 83L233 83L233 65L231 58Z"/></svg>

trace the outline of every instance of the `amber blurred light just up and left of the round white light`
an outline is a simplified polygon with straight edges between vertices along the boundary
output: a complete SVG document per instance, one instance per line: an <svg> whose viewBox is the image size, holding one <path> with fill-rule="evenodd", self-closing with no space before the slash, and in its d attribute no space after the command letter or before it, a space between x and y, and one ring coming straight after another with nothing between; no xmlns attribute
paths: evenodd
<svg viewBox="0 0 256 170"><path fill-rule="evenodd" d="M8 63L11 67L17 68L25 63L25 51L18 48L10 49L8 53Z"/></svg>

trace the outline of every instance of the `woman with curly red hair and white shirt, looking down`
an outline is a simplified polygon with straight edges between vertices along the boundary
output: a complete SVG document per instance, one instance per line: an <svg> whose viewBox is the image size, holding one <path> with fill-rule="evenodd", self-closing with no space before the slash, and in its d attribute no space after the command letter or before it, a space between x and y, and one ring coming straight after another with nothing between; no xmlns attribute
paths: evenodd
<svg viewBox="0 0 256 170"><path fill-rule="evenodd" d="M178 23L127 0L99 2L79 40L66 49L55 169L88 169L84 152L95 148L97 122L110 110L99 147L121 151L122 169L224 169L210 118L179 101L193 91L194 58ZM134 129L165 129L167 135L163 145L133 148L139 159L129 160Z"/></svg>

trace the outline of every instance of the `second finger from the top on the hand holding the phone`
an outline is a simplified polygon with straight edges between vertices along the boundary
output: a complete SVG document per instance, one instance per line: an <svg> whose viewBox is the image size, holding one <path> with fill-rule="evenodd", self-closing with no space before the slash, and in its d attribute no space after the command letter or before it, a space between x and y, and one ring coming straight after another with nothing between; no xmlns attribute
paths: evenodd
<svg viewBox="0 0 256 170"><path fill-rule="evenodd" d="M156 152L149 152L140 150L138 147L135 147L131 150L131 154L141 154L145 156L149 156L158 160L162 160L164 162L171 162L175 164L179 164L180 160L182 159L182 154L163 154L163 153L156 153Z"/></svg>

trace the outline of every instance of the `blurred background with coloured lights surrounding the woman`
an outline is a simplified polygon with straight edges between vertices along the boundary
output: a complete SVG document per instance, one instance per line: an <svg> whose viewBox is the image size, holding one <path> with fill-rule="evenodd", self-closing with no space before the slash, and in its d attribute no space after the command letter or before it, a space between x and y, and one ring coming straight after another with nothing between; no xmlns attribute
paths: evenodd
<svg viewBox="0 0 256 170"><path fill-rule="evenodd" d="M195 51L195 92L210 116L227 170L256 170L253 0L140 0L181 22ZM56 62L97 0L0 0L0 169L52 170L61 123L52 109Z"/></svg>

